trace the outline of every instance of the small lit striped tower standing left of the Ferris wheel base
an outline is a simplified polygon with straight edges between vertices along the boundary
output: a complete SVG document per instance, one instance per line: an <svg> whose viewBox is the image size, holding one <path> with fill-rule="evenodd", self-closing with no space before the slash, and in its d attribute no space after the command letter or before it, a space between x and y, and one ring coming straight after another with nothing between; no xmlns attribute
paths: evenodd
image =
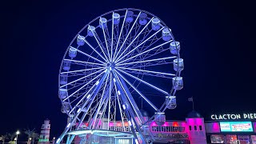
<svg viewBox="0 0 256 144"><path fill-rule="evenodd" d="M50 144L49 137L50 137L50 120L46 119L42 124L41 134L39 137L38 144Z"/></svg>

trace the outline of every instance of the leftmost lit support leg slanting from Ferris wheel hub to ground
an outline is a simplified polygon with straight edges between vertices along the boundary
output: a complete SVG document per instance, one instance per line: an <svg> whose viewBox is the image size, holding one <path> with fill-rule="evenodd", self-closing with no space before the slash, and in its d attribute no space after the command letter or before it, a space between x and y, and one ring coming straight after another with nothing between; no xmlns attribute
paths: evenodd
<svg viewBox="0 0 256 144"><path fill-rule="evenodd" d="M107 76L108 74L109 74L109 72L106 72L106 73L102 76L101 80L100 80L99 83L98 83L98 86L96 86L96 87L94 88L94 92L93 92L94 95L93 95L92 98L94 98L94 97L96 96L96 94L98 93L98 90L99 90L100 87L102 86L102 82L106 79L106 76ZM87 102L82 105L82 109L86 106L86 104L87 104ZM64 130L63 133L60 135L60 137L57 139L57 141L56 141L57 144L59 144L59 143L62 141L62 139L63 139L64 136L66 135L67 131L70 130L70 128L73 126L75 120L78 118L78 115L79 115L81 112L82 112L82 111L80 110L78 113L76 113L76 114L74 115L74 118L72 118L71 122L67 124L65 130ZM82 120L83 120L83 119L81 119L81 121L82 121Z"/></svg>

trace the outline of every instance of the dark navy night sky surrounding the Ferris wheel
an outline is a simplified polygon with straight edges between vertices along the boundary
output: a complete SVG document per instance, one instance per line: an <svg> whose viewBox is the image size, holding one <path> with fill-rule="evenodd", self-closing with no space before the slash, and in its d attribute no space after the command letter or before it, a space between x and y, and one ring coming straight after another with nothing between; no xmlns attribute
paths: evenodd
<svg viewBox="0 0 256 144"><path fill-rule="evenodd" d="M8 1L1 10L0 134L39 128L51 137L65 124L58 70L75 34L110 10L134 7L157 15L181 42L185 87L168 113L184 120L195 109L210 114L256 112L256 31L253 1Z"/></svg>

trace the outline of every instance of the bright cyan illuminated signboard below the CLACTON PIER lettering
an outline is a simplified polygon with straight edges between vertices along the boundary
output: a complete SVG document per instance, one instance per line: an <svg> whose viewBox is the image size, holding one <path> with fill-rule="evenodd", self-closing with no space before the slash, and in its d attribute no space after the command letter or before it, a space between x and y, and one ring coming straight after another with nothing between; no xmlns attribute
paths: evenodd
<svg viewBox="0 0 256 144"><path fill-rule="evenodd" d="M222 132L253 132L251 122L220 122Z"/></svg>

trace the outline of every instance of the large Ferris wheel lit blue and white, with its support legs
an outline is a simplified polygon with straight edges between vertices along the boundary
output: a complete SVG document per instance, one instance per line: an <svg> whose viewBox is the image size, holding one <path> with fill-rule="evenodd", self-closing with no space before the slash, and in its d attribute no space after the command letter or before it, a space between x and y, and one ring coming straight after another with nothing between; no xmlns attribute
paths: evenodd
<svg viewBox="0 0 256 144"><path fill-rule="evenodd" d="M56 142L66 135L67 143L75 136L84 143L122 137L153 142L149 122L166 121L165 111L176 107L176 91L183 87L179 51L170 28L145 10L113 10L94 18L62 60L59 98L70 121ZM138 99L154 116L143 118Z"/></svg>

